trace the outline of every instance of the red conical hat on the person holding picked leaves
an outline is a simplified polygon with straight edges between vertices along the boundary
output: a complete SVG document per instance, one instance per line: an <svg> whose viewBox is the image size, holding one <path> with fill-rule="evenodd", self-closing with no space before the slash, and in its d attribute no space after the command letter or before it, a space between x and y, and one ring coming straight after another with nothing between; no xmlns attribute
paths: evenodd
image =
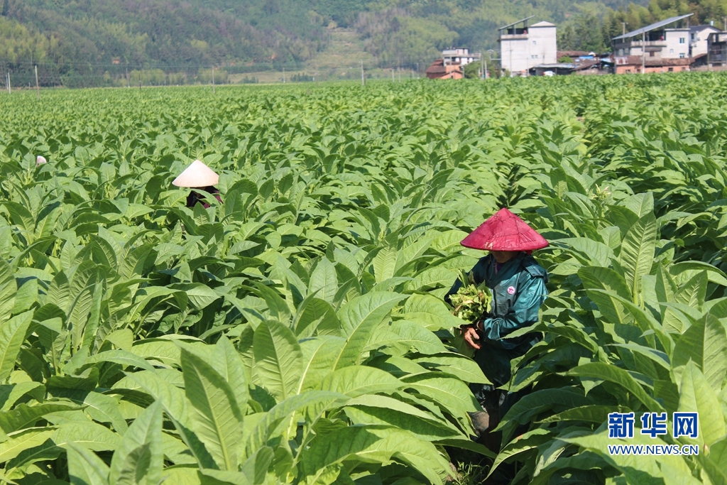
<svg viewBox="0 0 727 485"><path fill-rule="evenodd" d="M532 251L548 245L543 236L505 208L499 209L460 244L487 251Z"/></svg>

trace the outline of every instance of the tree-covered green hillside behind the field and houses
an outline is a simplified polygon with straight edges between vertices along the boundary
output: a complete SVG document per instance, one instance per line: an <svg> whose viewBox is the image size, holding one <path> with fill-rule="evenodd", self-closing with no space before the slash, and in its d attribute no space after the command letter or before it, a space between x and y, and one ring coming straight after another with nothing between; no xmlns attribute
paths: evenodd
<svg viewBox="0 0 727 485"><path fill-rule="evenodd" d="M41 84L95 76L108 85L140 68L198 80L212 66L225 69L218 79L279 70L324 51L335 26L355 31L384 66L425 63L454 45L497 49L497 28L528 15L558 24L561 49L603 51L623 23L633 29L683 12L720 23L727 14L727 0L0 1L0 68L39 64Z"/></svg>

